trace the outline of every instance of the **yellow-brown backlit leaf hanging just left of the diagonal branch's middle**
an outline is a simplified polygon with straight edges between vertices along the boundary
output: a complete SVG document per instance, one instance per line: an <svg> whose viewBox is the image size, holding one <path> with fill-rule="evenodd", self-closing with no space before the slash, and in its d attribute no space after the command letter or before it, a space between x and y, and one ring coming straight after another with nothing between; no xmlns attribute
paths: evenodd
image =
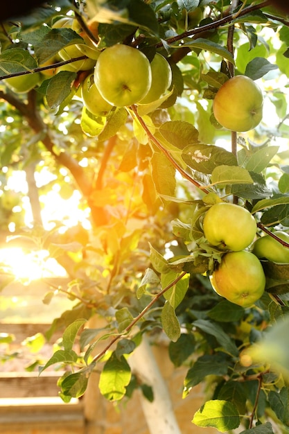
<svg viewBox="0 0 289 434"><path fill-rule="evenodd" d="M155 184L155 189L161 195L175 195L175 168L171 164L166 155L155 152L150 160L152 165L152 180Z"/></svg>

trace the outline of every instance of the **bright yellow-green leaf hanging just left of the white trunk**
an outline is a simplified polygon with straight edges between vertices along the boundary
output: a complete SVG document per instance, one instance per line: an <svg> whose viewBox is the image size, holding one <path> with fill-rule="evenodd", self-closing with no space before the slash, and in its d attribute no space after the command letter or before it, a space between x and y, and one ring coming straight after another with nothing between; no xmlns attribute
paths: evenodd
<svg viewBox="0 0 289 434"><path fill-rule="evenodd" d="M130 383L131 376L130 366L125 358L118 358L112 353L100 374L100 393L109 401L119 401L125 395L125 386Z"/></svg>

